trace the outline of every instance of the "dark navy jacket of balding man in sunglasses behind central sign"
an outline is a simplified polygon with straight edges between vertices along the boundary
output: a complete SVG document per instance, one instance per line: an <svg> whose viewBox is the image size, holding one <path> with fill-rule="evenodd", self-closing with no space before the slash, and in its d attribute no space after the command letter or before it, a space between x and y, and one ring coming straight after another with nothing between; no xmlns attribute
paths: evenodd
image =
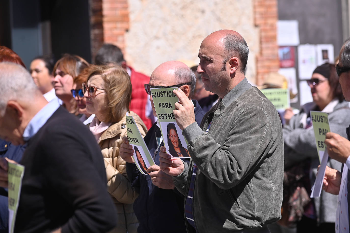
<svg viewBox="0 0 350 233"><path fill-rule="evenodd" d="M199 125L205 112L196 100L193 100L193 103L196 122ZM163 145L163 142L158 145L160 137L160 128L154 123L144 138L156 165L159 165L159 148ZM140 223L138 232L186 232L183 211L184 196L176 188L175 190L166 190L153 185L151 177L140 174L133 163L126 163L126 171L132 186L140 193L133 205L135 215Z"/></svg>

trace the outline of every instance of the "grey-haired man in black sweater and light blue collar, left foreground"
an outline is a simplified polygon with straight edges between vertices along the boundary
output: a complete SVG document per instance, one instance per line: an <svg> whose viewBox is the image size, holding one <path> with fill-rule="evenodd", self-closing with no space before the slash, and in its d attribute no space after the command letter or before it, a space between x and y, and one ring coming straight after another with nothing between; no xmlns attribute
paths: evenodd
<svg viewBox="0 0 350 233"><path fill-rule="evenodd" d="M108 232L116 210L93 135L57 101L42 96L28 71L0 63L0 137L27 143L15 232ZM14 162L14 161L10 161ZM0 158L0 186L8 187Z"/></svg>

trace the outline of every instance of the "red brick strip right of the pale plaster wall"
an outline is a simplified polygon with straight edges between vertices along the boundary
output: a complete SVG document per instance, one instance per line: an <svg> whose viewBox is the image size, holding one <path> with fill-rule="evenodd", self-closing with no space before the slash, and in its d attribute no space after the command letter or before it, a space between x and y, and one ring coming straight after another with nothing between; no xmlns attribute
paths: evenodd
<svg viewBox="0 0 350 233"><path fill-rule="evenodd" d="M256 57L257 85L264 83L268 73L279 69L277 21L277 0L254 0L254 23L260 35L260 52Z"/></svg>

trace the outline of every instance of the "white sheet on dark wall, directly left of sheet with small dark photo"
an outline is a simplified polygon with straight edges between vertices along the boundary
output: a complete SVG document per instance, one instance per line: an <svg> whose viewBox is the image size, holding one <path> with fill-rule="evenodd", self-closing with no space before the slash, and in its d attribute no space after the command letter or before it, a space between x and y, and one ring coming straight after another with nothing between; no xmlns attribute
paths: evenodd
<svg viewBox="0 0 350 233"><path fill-rule="evenodd" d="M316 45L301 44L298 46L299 79L310 79L317 67Z"/></svg>

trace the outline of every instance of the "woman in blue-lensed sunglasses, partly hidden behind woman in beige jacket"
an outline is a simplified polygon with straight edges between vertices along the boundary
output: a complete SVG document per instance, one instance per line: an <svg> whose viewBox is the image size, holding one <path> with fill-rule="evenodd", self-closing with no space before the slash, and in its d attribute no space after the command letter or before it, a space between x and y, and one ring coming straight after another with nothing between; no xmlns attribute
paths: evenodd
<svg viewBox="0 0 350 233"><path fill-rule="evenodd" d="M92 65L85 68L77 77L73 79L73 89L71 90L72 96L77 104L77 113L79 114L79 120L83 122L87 127L90 126L95 114L90 114L86 111L86 98L83 92L83 83L86 82L87 76L89 76L92 69Z"/></svg>

